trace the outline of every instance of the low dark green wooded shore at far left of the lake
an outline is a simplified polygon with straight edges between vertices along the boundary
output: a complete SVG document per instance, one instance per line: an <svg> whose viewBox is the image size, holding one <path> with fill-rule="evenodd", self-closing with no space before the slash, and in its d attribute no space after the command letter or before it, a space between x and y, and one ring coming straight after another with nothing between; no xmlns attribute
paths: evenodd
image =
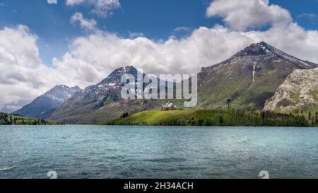
<svg viewBox="0 0 318 193"><path fill-rule="evenodd" d="M1 124L57 124L56 122L47 122L43 119L33 119L29 117L22 117L20 115L10 115L6 113L0 113L0 125Z"/></svg>

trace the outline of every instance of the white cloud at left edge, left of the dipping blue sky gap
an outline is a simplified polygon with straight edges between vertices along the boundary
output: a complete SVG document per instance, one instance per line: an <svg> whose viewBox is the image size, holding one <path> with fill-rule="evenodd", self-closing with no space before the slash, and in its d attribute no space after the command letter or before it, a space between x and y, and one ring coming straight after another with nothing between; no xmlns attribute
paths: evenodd
<svg viewBox="0 0 318 193"><path fill-rule="evenodd" d="M0 107L31 100L49 86L48 68L39 59L36 40L24 25L0 30Z"/></svg>

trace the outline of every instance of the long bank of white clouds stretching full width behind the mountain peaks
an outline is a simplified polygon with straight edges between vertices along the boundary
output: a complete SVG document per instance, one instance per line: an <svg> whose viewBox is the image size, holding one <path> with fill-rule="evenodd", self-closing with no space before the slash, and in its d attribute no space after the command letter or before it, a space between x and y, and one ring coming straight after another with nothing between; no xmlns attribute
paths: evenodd
<svg viewBox="0 0 318 193"><path fill-rule="evenodd" d="M232 2L235 3L234 0ZM254 4L258 5L254 8L259 12L273 6L264 1ZM283 13L276 13L267 20L271 21L271 27L263 31L234 30L229 24L215 25L213 28L197 28L181 39L170 37L154 41L141 35L125 38L93 30L74 39L64 57L53 59L52 67L40 61L37 37L27 27L4 28L0 30L0 107L4 103L30 101L56 84L84 88L98 83L112 70L125 65L134 65L146 74L194 74L202 66L222 62L247 45L260 41L295 57L318 63L317 30L305 30L291 19L283 23L272 22L277 15L285 14L285 9L276 8ZM254 12L247 11L243 15L249 18L254 16ZM227 18L228 14L223 17ZM248 23L244 25L246 29L256 26L254 22Z"/></svg>

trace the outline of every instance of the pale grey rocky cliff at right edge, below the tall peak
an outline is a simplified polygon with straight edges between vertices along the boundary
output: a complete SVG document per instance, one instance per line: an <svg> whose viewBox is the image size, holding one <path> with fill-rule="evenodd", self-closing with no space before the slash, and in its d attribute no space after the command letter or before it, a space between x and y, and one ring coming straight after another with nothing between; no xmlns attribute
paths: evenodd
<svg viewBox="0 0 318 193"><path fill-rule="evenodd" d="M295 70L275 95L266 101L264 110L295 112L318 107L318 69Z"/></svg>

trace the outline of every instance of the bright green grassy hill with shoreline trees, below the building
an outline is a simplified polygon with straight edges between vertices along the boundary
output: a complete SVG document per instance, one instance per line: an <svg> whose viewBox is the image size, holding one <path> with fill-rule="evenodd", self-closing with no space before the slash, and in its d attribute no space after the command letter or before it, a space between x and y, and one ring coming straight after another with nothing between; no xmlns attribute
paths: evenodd
<svg viewBox="0 0 318 193"><path fill-rule="evenodd" d="M153 126L309 126L305 116L244 110L144 111L102 124Z"/></svg>

